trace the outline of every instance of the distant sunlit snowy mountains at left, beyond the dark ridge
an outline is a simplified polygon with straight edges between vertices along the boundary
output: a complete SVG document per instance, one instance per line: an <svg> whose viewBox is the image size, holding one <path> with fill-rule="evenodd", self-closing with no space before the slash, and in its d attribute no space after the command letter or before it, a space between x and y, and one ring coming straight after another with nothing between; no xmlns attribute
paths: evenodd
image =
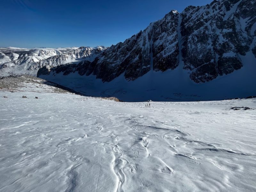
<svg viewBox="0 0 256 192"><path fill-rule="evenodd" d="M30 74L36 76L39 68L57 66L82 60L93 61L104 46L71 48L0 48L0 77Z"/></svg>

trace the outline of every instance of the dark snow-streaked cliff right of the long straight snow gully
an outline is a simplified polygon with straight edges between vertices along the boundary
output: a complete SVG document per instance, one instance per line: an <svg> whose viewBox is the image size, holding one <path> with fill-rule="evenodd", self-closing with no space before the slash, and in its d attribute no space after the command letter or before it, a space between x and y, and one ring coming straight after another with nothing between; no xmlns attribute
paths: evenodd
<svg viewBox="0 0 256 192"><path fill-rule="evenodd" d="M255 1L224 0L181 13L182 58L193 81L210 81L243 66L240 56L253 40L255 46L255 12Z"/></svg>

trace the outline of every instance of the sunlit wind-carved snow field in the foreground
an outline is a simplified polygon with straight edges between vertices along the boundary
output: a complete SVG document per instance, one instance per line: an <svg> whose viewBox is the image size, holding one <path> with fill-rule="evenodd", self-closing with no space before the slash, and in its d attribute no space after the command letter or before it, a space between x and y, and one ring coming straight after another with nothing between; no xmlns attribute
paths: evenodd
<svg viewBox="0 0 256 192"><path fill-rule="evenodd" d="M0 191L256 191L256 99L151 106L1 91Z"/></svg>

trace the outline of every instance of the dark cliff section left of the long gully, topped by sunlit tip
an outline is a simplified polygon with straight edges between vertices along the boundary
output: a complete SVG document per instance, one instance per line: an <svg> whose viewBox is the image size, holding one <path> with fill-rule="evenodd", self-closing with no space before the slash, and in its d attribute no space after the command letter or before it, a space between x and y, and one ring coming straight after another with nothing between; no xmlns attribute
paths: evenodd
<svg viewBox="0 0 256 192"><path fill-rule="evenodd" d="M145 75L150 69L165 71L178 66L178 41L176 28L178 13L172 11L162 20L151 23L144 31L112 45L91 62L83 62L79 74L95 75L103 82L112 81L124 73L128 80Z"/></svg>

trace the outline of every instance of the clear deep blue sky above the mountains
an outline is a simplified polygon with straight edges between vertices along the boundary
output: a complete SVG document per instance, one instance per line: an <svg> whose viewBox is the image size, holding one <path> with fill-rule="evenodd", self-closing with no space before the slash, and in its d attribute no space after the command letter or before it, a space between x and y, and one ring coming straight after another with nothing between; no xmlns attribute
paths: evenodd
<svg viewBox="0 0 256 192"><path fill-rule="evenodd" d="M111 46L175 9L212 0L0 0L0 47Z"/></svg>

